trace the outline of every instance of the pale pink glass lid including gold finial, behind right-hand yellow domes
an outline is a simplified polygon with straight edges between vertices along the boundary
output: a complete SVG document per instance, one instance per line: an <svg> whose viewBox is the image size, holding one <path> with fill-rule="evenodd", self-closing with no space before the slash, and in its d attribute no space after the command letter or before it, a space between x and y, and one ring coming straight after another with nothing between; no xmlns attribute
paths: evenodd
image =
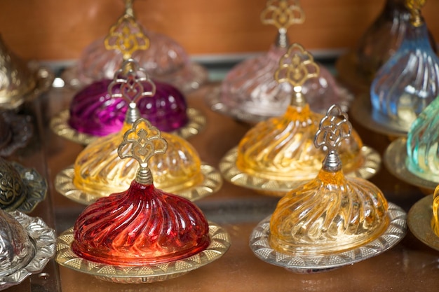
<svg viewBox="0 0 439 292"><path fill-rule="evenodd" d="M279 84L273 76L279 63L290 54L288 27L303 23L304 18L299 1L267 1L261 19L262 23L278 29L276 42L268 52L244 60L229 71L221 85L206 97L211 109L251 123L282 116L294 88ZM309 79L302 86L309 106L322 114L335 103L347 110L353 95L342 88L323 65L318 66L317 78Z"/></svg>

